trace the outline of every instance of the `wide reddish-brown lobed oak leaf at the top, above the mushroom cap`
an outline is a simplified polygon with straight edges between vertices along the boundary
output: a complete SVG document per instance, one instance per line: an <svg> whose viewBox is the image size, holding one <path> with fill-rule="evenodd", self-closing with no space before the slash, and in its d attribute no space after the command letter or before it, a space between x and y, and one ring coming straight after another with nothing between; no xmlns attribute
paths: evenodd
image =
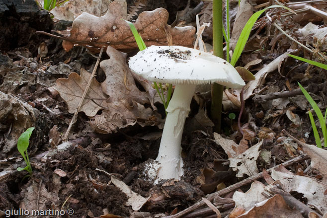
<svg viewBox="0 0 327 218"><path fill-rule="evenodd" d="M168 11L157 8L140 13L134 25L147 46L167 45L167 34L172 36L173 45L192 47L195 28L193 26L171 28L167 24ZM110 3L104 16L94 16L86 12L78 16L73 26L65 35L63 47L66 51L74 45L101 48L108 45L119 50L137 49L133 33L123 19L127 19L126 0L115 0Z"/></svg>

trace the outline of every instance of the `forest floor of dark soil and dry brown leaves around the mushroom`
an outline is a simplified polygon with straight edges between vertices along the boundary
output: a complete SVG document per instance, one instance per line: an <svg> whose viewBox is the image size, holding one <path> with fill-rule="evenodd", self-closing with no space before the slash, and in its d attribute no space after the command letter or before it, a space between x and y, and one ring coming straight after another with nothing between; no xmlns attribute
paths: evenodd
<svg viewBox="0 0 327 218"><path fill-rule="evenodd" d="M122 13L125 0L115 2L120 5L113 2L108 6L112 13L108 20ZM289 7L294 3L280 2ZM102 34L93 31L92 22L77 18L72 24L52 19L32 0L18 6L5 0L0 3L6 5L0 11L0 218L28 217L23 211L32 210L49 210L47 215L34 217L58 217L49 213L63 210L63 218L327 217L327 150L315 146L308 115L312 107L298 85L300 82L307 89L324 114L327 71L287 56L327 64L326 15L310 11L284 15L286 10L273 8L268 13L271 22L263 13L236 65L255 75L244 89L243 134L238 125L240 91L224 91L222 130L218 134L210 119L210 86L197 88L181 142L184 175L180 180L154 185L144 171L146 163L158 155L164 106L152 84L128 69L128 59L138 52L136 43L127 40L133 39L131 33L124 32L128 24L121 23L120 18L111 21L115 25L107 24L106 31L112 35L98 44L107 42L113 48L104 49L97 67L98 45L78 38L86 34L95 39ZM231 1L232 39L241 32L237 28L242 30L240 25L245 25L240 16L270 5L266 0L241 3L238 10L237 3ZM326 1L303 5L326 14ZM196 27L195 18L185 15L191 12L200 12L200 22L212 22L211 1L202 5L191 0L189 6L187 0L127 2L130 19L160 7L169 13L161 21L164 24ZM185 16L178 15L180 11ZM151 16L163 13L165 10L157 10ZM151 16L145 13L139 21L151 20ZM141 35L151 33L137 22L136 27L144 28L139 28ZM105 29L103 23L105 19L99 21L99 29ZM36 33L51 30L66 36L66 41ZM173 43L193 47L194 32L190 38L182 30L168 31ZM116 34L121 38L114 42ZM143 36L147 46L167 41L160 35L153 36L159 40L151 38L151 34L148 40ZM202 36L210 51L212 27L206 27ZM65 139L94 68L92 91L87 93ZM316 114L314 119L319 125ZM17 150L17 140L29 127L35 127L27 150L33 171L26 177L26 171L16 170L26 165Z"/></svg>

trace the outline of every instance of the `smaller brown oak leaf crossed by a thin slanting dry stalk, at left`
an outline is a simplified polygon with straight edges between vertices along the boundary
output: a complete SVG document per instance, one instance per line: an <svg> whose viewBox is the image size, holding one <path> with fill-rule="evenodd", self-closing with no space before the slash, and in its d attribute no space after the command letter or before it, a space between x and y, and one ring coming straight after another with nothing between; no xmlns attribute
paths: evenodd
<svg viewBox="0 0 327 218"><path fill-rule="evenodd" d="M76 112L90 76L90 73L82 69L81 75L73 72L69 74L67 79L57 79L56 85L53 86L66 101L69 113L73 114ZM99 110L103 109L101 105L106 104L107 98L108 96L102 92L100 83L95 78L92 78L80 111L84 112L86 116L93 117Z"/></svg>

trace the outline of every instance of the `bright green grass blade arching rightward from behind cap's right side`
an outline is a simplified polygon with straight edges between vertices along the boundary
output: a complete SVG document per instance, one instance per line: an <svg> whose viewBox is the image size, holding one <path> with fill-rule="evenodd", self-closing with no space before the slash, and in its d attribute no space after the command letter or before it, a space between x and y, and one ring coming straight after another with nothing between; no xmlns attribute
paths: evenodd
<svg viewBox="0 0 327 218"><path fill-rule="evenodd" d="M267 8L264 8L262 10L259 10L257 12L255 12L254 14L252 14L252 16L248 19L248 21L245 24L244 29L241 32L240 38L235 46L235 50L234 50L234 54L231 60L231 65L233 65L233 67L235 66L236 62L239 60L243 49L245 47L246 41L250 35L251 29L254 25L254 23L256 22L256 20L259 18L259 16L267 9L269 8L273 8L273 7L283 7L287 10L293 11L288 7L282 6L282 5L271 5Z"/></svg>

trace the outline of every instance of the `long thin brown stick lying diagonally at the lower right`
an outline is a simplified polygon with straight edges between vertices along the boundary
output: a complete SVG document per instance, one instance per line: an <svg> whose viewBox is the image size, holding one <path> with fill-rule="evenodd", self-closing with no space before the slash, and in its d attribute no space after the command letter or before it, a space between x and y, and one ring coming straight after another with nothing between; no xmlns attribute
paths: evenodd
<svg viewBox="0 0 327 218"><path fill-rule="evenodd" d="M284 167L287 167L287 166L290 166L290 165L292 165L294 163L297 163L297 162L300 162L300 161L303 161L303 160L306 160L306 159L309 159L309 158L310 157L309 157L308 154L303 154L301 156L297 156L297 157L295 157L295 158L293 158L291 160L288 160L288 161L286 161L284 163L278 164L275 167L267 169L267 171L271 172L274 168L279 167L280 165L283 165ZM212 194L208 195L207 199L209 201L212 201L217 196L226 195L227 193L230 193L231 191L234 191L235 189L238 189L238 188L240 188L240 187L242 187L242 186L244 186L246 184L249 184L249 183L253 182L254 180L258 180L258 179L260 179L262 177L263 177L263 172L260 172L260 173L254 175L254 176L251 176L251 177L248 177L248 178L242 180L241 182L235 183L234 185L231 185L231 186L229 186L229 187L227 187L225 189L222 189L222 190L220 190L218 192L215 192L215 193L212 193ZM172 216L168 216L166 218L180 218L180 217L182 217L182 216L184 216L184 215L186 215L186 214L188 214L188 213L194 211L195 209L197 209L199 207L202 207L204 205L206 205L206 204L203 201L200 201L200 202L192 205L191 207L186 208L184 211L181 211L178 214L175 214L175 215L172 215Z"/></svg>

